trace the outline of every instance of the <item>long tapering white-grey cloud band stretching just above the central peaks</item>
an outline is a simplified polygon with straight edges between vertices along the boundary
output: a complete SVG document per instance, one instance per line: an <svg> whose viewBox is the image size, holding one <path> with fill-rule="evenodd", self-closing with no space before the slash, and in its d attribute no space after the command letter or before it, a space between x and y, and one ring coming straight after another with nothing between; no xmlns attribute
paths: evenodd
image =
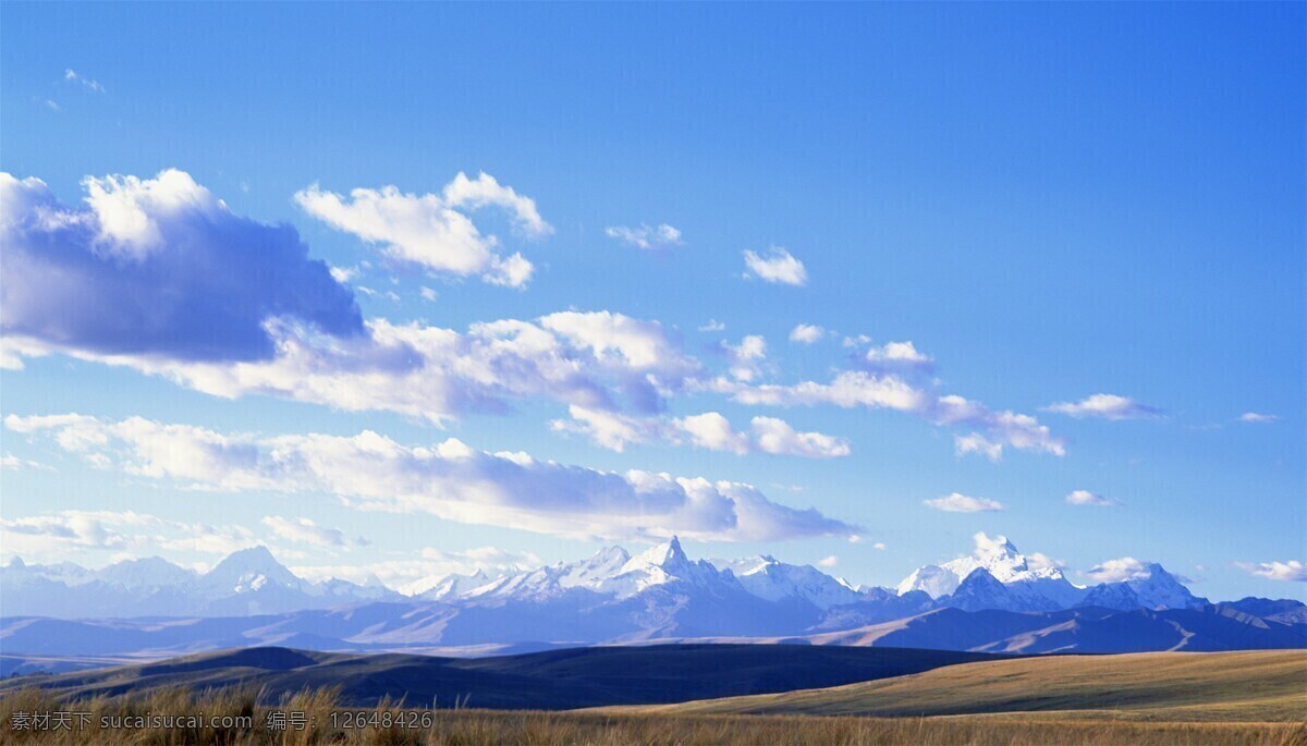
<svg viewBox="0 0 1307 746"><path fill-rule="evenodd" d="M139 417L9 415L5 426L50 432L65 449L106 466L184 487L327 493L361 510L567 537L774 541L857 530L816 510L774 503L750 485L599 472L474 451L452 438L430 447L405 447L372 431L256 438Z"/></svg>

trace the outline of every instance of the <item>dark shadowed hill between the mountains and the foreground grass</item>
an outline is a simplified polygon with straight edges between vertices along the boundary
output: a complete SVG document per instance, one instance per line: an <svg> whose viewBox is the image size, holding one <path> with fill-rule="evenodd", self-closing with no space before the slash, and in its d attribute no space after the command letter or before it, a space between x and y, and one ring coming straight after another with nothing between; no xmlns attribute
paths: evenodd
<svg viewBox="0 0 1307 746"><path fill-rule="evenodd" d="M244 648L17 677L0 683L0 696L33 686L63 699L257 687L272 702L302 690L336 687L339 700L348 705L369 707L389 698L418 707L459 702L494 709L570 709L838 686L1000 658L950 651L752 644L595 647L486 658Z"/></svg>

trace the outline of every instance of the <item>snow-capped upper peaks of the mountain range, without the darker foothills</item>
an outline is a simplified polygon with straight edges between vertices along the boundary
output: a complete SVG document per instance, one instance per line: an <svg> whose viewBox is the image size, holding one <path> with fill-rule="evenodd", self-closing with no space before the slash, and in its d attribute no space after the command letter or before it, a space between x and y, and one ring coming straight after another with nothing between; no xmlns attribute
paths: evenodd
<svg viewBox="0 0 1307 746"><path fill-rule="evenodd" d="M240 615L325 609L374 601L481 605L579 598L614 604L654 591L682 596L749 597L806 609L814 624L830 628L884 621L931 608L1053 611L1074 606L1108 609L1191 609L1193 596L1161 564L1138 577L1090 588L1070 583L1042 555L1026 557L1005 537L976 534L975 553L918 568L895 589L853 587L808 564L770 555L733 560L691 560L680 541L631 555L620 546L578 562L493 577L484 571L434 579L427 591L403 596L375 577L362 585L345 580L310 583L297 577L265 547L237 551L205 574L159 558L86 570L71 563L38 566L14 559L0 567L5 617L59 618L142 615ZM672 602L676 602L673 600Z"/></svg>

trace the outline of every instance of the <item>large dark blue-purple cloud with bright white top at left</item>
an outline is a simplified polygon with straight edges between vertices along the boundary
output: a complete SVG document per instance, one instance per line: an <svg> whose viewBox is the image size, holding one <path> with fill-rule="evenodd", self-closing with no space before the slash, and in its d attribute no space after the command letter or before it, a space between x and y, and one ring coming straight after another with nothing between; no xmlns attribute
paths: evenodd
<svg viewBox="0 0 1307 746"><path fill-rule="evenodd" d="M289 226L231 213L178 170L88 178L84 205L0 172L0 328L102 354L255 361L271 320L365 333L353 294Z"/></svg>

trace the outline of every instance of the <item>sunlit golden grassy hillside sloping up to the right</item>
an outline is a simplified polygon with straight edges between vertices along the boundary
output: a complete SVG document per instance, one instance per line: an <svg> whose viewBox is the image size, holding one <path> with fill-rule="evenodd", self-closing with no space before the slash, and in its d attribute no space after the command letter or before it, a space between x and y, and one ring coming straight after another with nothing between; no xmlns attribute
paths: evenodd
<svg viewBox="0 0 1307 746"><path fill-rule="evenodd" d="M640 712L1034 713L1155 721L1307 720L1307 651L1029 657L864 683L690 702Z"/></svg>

